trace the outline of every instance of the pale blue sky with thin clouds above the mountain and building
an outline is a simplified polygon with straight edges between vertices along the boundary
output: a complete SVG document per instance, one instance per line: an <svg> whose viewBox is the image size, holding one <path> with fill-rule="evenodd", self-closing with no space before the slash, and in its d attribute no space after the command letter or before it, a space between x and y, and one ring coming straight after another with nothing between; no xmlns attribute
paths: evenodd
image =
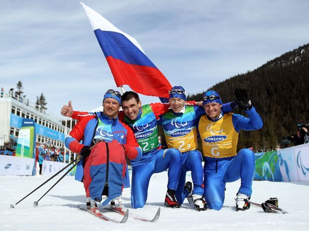
<svg viewBox="0 0 309 231"><path fill-rule="evenodd" d="M101 105L116 85L79 2L0 1L0 87L21 80L31 102L43 92L59 116L68 100L77 110ZM309 43L307 0L83 2L134 37L171 84L189 93Z"/></svg>

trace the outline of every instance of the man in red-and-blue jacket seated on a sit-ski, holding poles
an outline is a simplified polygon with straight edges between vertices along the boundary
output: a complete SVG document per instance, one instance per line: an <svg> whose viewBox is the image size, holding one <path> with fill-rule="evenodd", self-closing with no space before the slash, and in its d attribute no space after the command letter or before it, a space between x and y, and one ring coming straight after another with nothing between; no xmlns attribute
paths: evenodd
<svg viewBox="0 0 309 231"><path fill-rule="evenodd" d="M123 186L129 187L124 154L135 161L142 156L133 131L119 121L120 105L121 94L113 89L106 91L103 97L103 111L87 113L65 138L66 148L84 157L77 165L75 180L84 183L87 208L91 208L91 199L96 202L103 201L102 205L111 201L111 206L115 206L114 199L121 197ZM63 106L62 115L72 112L73 107L69 101L68 105ZM90 147L97 140L106 142L105 151L99 149L94 152L98 150L97 146L91 150ZM108 146L113 150L111 156L108 155ZM106 159L102 157L103 154L106 154ZM121 203L121 199L118 202Z"/></svg>

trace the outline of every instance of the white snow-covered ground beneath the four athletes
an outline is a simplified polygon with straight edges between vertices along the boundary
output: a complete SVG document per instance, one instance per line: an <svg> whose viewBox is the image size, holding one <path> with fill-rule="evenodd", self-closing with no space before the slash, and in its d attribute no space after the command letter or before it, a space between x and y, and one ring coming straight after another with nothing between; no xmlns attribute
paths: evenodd
<svg viewBox="0 0 309 231"><path fill-rule="evenodd" d="M197 212L185 200L180 209L164 207L167 173L155 174L149 186L148 201L143 208L130 208L130 189L124 189L124 206L130 208L125 224L100 220L90 213L78 210L85 205L83 184L73 177L65 177L33 207L48 188L59 178L51 180L24 201L15 205L48 177L0 177L0 231L88 231L88 230L309 230L309 182L254 181L252 202L261 203L269 197L278 197L279 206L288 214L264 213L259 207L235 211L235 194L240 181L228 183L225 203L221 210ZM187 177L190 180L190 177ZM155 223L137 221L134 215L153 217L158 207L161 216ZM121 219L120 214L106 213Z"/></svg>

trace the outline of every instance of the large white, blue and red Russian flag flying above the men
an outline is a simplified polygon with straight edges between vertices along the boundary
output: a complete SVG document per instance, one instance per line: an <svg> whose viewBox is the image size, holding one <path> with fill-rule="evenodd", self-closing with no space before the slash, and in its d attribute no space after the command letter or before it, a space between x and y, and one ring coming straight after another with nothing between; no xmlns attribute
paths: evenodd
<svg viewBox="0 0 309 231"><path fill-rule="evenodd" d="M172 88L139 43L81 2L106 57L116 85L128 85L143 95L169 98Z"/></svg>

